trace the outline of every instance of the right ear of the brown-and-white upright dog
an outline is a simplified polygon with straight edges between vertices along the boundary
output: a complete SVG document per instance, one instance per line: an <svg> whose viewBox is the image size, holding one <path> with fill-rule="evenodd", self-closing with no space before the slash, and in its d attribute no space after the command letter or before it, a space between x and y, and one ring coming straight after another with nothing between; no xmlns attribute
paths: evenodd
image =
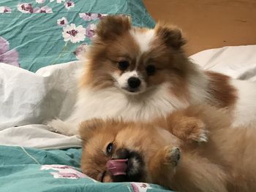
<svg viewBox="0 0 256 192"><path fill-rule="evenodd" d="M175 26L157 23L155 27L157 36L164 41L165 45L178 50L186 44L186 39L182 36L181 30Z"/></svg>

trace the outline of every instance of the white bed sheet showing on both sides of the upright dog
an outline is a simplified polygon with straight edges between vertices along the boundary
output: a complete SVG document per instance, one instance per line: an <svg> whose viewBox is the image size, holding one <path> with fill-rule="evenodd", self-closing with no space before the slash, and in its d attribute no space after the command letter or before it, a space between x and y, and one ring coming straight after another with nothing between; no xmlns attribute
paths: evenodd
<svg viewBox="0 0 256 192"><path fill-rule="evenodd" d="M190 58L203 69L256 80L256 45L204 50ZM81 69L82 61L47 66L36 73L0 64L0 145L79 147L78 137L50 132L44 123L72 112Z"/></svg>

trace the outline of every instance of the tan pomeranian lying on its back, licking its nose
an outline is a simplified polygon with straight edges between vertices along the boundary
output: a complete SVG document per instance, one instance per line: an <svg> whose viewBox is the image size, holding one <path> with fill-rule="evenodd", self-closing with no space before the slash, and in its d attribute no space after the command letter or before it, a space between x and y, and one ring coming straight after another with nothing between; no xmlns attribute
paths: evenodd
<svg viewBox="0 0 256 192"><path fill-rule="evenodd" d="M256 189L256 129L230 128L223 110L192 106L153 123L93 119L80 126L81 169L102 182L181 192ZM208 131L208 141L200 139Z"/></svg>

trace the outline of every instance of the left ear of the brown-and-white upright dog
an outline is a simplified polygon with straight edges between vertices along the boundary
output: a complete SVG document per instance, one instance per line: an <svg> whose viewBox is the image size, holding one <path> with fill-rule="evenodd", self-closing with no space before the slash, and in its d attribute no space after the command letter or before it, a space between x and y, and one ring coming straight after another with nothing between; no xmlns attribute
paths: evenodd
<svg viewBox="0 0 256 192"><path fill-rule="evenodd" d="M132 28L131 19L127 15L109 15L98 23L96 34L102 39L115 39Z"/></svg>

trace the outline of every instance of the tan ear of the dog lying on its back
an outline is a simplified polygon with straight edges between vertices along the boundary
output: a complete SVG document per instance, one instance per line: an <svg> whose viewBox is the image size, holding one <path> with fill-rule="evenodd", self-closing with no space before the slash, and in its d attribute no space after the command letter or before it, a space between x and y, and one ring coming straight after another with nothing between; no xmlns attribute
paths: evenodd
<svg viewBox="0 0 256 192"><path fill-rule="evenodd" d="M93 118L91 120L85 120L80 123L79 134L84 142L88 141L94 134L97 128L101 128L104 125L104 120L99 118Z"/></svg>

